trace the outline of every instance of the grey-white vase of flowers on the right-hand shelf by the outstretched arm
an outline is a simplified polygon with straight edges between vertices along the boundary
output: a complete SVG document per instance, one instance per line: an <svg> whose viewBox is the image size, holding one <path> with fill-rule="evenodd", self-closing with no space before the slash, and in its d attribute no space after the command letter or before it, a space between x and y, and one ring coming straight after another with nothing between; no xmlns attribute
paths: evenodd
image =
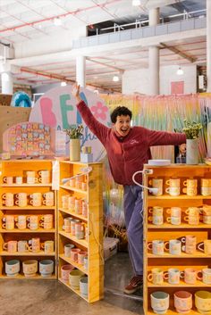
<svg viewBox="0 0 211 315"><path fill-rule="evenodd" d="M186 135L186 163L198 164L198 137L202 128L200 122L184 120L182 131Z"/></svg>

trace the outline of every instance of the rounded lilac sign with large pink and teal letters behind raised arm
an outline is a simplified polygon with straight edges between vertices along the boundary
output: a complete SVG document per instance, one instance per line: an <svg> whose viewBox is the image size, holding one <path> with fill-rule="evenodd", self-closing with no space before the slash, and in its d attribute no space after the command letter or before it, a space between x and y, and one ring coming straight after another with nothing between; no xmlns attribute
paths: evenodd
<svg viewBox="0 0 211 315"><path fill-rule="evenodd" d="M110 115L99 96L86 88L80 88L81 99L89 106L95 118L110 127ZM72 95L72 87L55 87L42 95L30 112L30 121L48 125L55 130L63 130L82 124L83 136L80 138L81 146L91 146L93 160L100 161L105 156L105 149L95 135L81 119L76 107L76 98Z"/></svg>

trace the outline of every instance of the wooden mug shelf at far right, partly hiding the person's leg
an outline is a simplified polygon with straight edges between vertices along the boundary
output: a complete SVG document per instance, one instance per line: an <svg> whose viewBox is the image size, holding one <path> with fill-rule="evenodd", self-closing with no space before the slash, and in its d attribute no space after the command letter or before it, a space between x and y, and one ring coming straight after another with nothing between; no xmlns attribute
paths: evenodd
<svg viewBox="0 0 211 315"><path fill-rule="evenodd" d="M198 179L198 195L196 196L171 196L161 195L154 196L148 193L148 190L144 191L144 312L145 315L155 314L151 308L150 294L156 291L164 291L170 294L170 307L166 311L167 315L178 314L173 306L173 294L176 291L185 290L193 294L193 307L190 311L191 315L199 315L194 303L194 293L198 290L207 290L211 292L211 285L207 285L200 280L194 285L190 285L181 279L180 284L171 285L167 280L164 280L162 285L154 285L148 281L148 273L152 268L159 268L163 271L167 271L169 268L176 268L183 271L185 268L193 268L201 270L203 268L211 268L210 256L198 250L194 254L187 254L181 252L181 255L173 255L165 252L163 255L155 255L148 250L148 242L153 240L169 241L170 239L180 239L186 235L194 235L197 237L197 244L203 242L205 239L211 239L211 226L200 222L198 225L190 225L183 220L185 210L188 207L200 207L203 204L211 205L211 196L200 195L200 178L211 178L211 167L205 164L202 165L186 165L186 164L172 164L170 166L151 166L146 164L144 170L153 170L153 174L144 175L144 185L149 185L149 180L152 178L164 179L164 192L167 188L165 181L169 178L181 178L181 191L182 183L187 178ZM164 208L164 224L156 226L148 221L148 216L152 216L149 213L149 209L153 206L160 206ZM166 222L166 209L171 207L181 207L181 225L172 225Z"/></svg>

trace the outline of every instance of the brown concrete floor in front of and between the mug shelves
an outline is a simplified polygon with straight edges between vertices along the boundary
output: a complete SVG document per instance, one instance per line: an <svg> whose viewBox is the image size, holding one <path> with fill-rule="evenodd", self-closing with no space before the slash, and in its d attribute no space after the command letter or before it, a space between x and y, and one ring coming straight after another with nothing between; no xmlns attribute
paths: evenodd
<svg viewBox="0 0 211 315"><path fill-rule="evenodd" d="M122 294L131 275L128 254L114 255L105 262L105 299L92 304L56 280L1 280L0 315L142 315L141 292Z"/></svg>

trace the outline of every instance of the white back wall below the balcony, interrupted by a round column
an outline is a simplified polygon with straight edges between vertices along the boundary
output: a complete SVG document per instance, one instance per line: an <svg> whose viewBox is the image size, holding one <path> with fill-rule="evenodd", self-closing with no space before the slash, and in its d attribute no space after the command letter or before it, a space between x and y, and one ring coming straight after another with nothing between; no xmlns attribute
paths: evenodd
<svg viewBox="0 0 211 315"><path fill-rule="evenodd" d="M160 94L171 94L171 82L184 81L184 94L197 91L197 67L194 64L181 67L184 74L178 76L179 66L165 66L160 68ZM150 79L148 69L125 71L122 75L122 94L131 95L134 92L150 95Z"/></svg>

